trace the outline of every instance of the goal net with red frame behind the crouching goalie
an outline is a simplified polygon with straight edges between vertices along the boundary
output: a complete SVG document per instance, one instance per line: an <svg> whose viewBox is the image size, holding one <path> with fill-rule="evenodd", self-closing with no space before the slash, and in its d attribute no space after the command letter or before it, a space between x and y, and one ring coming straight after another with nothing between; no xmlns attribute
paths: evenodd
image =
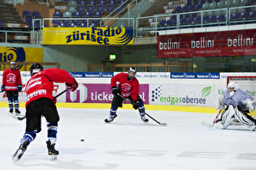
<svg viewBox="0 0 256 170"><path fill-rule="evenodd" d="M251 95L256 100L256 76L228 76L227 86L229 82L236 82L242 91ZM255 118L256 111L251 113L253 118Z"/></svg>

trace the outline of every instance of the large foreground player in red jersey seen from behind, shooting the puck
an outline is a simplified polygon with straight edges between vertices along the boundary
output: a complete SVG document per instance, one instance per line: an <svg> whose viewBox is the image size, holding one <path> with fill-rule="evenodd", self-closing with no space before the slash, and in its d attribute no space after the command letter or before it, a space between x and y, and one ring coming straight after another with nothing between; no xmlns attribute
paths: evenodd
<svg viewBox="0 0 256 170"><path fill-rule="evenodd" d="M43 70L41 64L32 64L31 78L25 91L26 100L26 131L21 139L21 145L13 156L13 161L19 161L28 144L34 141L36 133L41 131L42 116L47 119L47 149L48 155L57 158L59 151L54 149L57 139L59 114L53 101L53 82L66 82L67 88L75 91L78 82L66 70L57 68Z"/></svg>

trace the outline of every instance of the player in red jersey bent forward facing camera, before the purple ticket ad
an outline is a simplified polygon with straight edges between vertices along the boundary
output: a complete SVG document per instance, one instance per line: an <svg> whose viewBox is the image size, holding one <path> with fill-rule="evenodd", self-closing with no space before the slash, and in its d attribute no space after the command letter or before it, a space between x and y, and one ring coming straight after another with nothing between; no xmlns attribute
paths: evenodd
<svg viewBox="0 0 256 170"><path fill-rule="evenodd" d="M122 97L118 94L122 94L123 97L131 100L135 110L139 108L140 118L142 121L147 122L148 119L145 117L145 107L143 101L139 95L139 81L134 77L136 69L131 67L128 73L119 73L111 78L112 93L115 94L112 100L110 108L110 117L105 119L106 123L112 122L116 118L116 110L118 106L122 107ZM116 82L119 82L118 88Z"/></svg>

